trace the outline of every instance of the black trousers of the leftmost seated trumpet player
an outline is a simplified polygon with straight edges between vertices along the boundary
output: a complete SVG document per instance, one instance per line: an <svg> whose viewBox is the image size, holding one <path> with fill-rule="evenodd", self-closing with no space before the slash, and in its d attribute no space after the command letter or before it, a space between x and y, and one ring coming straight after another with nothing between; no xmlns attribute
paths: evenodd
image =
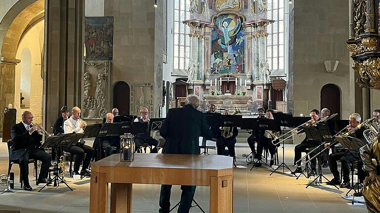
<svg viewBox="0 0 380 213"><path fill-rule="evenodd" d="M38 181L47 178L51 162L51 155L41 149L28 149L19 159L21 178L25 186L29 186L29 159L35 159L42 162Z"/></svg>

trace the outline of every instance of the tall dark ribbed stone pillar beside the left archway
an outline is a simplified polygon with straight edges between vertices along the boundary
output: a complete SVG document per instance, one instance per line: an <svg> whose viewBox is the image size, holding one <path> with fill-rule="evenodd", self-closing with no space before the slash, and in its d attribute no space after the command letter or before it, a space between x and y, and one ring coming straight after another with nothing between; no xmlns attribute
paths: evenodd
<svg viewBox="0 0 380 213"><path fill-rule="evenodd" d="M84 0L45 0L43 126L60 107L82 107Z"/></svg>

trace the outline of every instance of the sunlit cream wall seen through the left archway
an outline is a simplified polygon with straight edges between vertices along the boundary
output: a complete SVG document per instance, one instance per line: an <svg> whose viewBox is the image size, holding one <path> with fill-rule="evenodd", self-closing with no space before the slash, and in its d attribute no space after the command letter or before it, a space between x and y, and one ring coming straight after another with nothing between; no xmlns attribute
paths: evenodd
<svg viewBox="0 0 380 213"><path fill-rule="evenodd" d="M34 120L38 124L42 123L42 95L43 79L41 78L41 53L44 47L44 20L39 21L24 34L18 45L16 58L21 59L21 52L28 48L32 54L31 60L31 78L21 79L22 61L16 65L15 70L15 99L14 108L17 109L17 121L21 120L23 110L29 110L33 113ZM20 85L23 81L30 81L30 105L26 108L20 108Z"/></svg>

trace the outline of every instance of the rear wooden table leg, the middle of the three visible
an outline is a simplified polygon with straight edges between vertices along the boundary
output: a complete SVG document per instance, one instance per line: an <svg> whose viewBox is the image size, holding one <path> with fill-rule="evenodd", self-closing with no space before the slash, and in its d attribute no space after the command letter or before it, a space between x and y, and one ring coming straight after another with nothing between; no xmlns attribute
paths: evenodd
<svg viewBox="0 0 380 213"><path fill-rule="evenodd" d="M132 183L111 183L111 213L132 213Z"/></svg>

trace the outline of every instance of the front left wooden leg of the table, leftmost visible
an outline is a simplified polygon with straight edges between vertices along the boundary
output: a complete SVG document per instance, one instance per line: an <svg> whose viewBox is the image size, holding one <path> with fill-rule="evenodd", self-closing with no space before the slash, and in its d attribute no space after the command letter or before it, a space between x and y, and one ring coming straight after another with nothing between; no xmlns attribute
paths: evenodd
<svg viewBox="0 0 380 213"><path fill-rule="evenodd" d="M90 213L108 212L107 174L91 172Z"/></svg>

